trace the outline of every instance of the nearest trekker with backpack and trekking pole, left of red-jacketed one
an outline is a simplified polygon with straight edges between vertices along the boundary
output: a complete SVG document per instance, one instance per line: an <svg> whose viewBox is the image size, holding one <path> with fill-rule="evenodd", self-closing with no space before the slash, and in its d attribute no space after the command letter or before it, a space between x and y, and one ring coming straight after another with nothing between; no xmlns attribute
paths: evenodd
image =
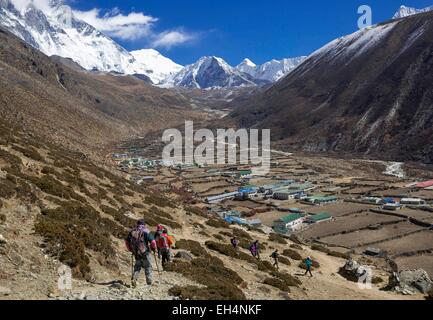
<svg viewBox="0 0 433 320"><path fill-rule="evenodd" d="M137 287L137 280L141 269L144 269L146 283L152 285L152 263L150 251L155 252L156 242L152 240L149 229L146 228L144 220L139 220L137 226L132 229L125 240L127 249L135 257L132 273L132 287Z"/></svg>

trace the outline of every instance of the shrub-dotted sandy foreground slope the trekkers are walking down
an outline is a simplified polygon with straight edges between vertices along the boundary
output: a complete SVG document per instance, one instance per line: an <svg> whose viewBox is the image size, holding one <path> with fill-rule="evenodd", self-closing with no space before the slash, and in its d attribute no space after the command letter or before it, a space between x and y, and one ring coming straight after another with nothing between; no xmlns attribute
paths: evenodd
<svg viewBox="0 0 433 320"><path fill-rule="evenodd" d="M3 121L0 133L0 299L402 298L379 290L388 276L379 267L374 288L361 290L338 274L344 254L228 225L182 194L136 186ZM154 286L132 289L123 239L139 218L169 228L176 259L161 273L153 265ZM239 252L229 244L234 235ZM262 261L247 250L255 239ZM268 258L275 248L279 272ZM303 276L306 256L313 279ZM57 287L62 265L72 268L72 290Z"/></svg>

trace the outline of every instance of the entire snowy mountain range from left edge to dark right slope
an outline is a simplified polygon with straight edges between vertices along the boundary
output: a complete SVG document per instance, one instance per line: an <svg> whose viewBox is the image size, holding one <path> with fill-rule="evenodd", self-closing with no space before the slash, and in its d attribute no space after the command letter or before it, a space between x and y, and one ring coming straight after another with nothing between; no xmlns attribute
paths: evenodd
<svg viewBox="0 0 433 320"><path fill-rule="evenodd" d="M203 57L183 67L153 49L128 52L77 19L59 0L52 0L44 11L33 3L19 10L10 0L0 0L0 25L48 56L70 58L90 71L137 75L165 87L234 88L272 83L304 59L272 60L247 72L244 65L233 68L217 57Z"/></svg>

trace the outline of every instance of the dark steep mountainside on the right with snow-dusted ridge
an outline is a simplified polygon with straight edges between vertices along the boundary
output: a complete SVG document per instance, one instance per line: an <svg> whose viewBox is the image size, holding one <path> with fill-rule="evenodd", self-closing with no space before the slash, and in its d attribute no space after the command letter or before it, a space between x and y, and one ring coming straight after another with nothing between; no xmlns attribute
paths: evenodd
<svg viewBox="0 0 433 320"><path fill-rule="evenodd" d="M336 39L227 120L291 148L432 163L432 38L427 12Z"/></svg>

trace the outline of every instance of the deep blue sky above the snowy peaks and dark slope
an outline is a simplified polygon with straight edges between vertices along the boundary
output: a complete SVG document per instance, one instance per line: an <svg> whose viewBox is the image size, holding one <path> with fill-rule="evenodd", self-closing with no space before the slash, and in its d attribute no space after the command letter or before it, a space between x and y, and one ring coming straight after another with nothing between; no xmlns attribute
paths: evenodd
<svg viewBox="0 0 433 320"><path fill-rule="evenodd" d="M157 46L180 64L204 55L232 65L248 57L270 59L308 55L357 30L360 5L370 5L373 23L388 20L404 4L424 8L432 0L72 0L75 10L101 9L99 16L143 13L152 20L135 37L113 36L128 50ZM115 10L113 10L116 8ZM161 39L163 39L161 41Z"/></svg>

